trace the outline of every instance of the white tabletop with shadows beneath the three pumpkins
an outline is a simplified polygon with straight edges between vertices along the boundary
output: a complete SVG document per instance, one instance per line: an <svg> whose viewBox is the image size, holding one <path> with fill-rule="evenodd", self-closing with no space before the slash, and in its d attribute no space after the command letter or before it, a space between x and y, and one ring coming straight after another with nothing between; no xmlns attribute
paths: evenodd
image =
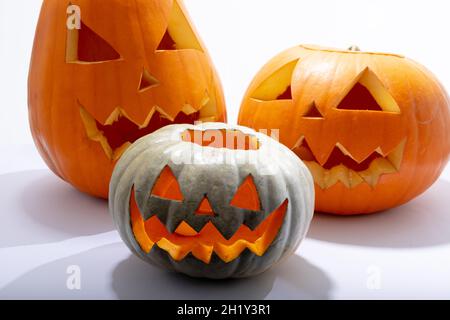
<svg viewBox="0 0 450 320"><path fill-rule="evenodd" d="M316 215L285 264L220 282L160 271L132 256L107 203L56 178L32 145L10 150L0 168L0 299L450 298L450 166L400 208L353 218ZM73 265L81 270L81 290L66 286Z"/></svg>

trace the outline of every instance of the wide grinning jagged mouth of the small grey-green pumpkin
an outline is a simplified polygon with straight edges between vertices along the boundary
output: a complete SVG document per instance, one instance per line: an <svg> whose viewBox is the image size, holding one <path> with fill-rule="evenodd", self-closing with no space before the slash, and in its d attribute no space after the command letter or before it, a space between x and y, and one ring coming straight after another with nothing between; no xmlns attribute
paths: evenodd
<svg viewBox="0 0 450 320"><path fill-rule="evenodd" d="M174 233L170 233L157 216L144 221L132 190L130 220L135 239L144 252L149 253L156 245L175 261L181 261L191 253L208 264L213 253L224 262L235 260L245 249L258 256L264 255L283 225L287 206L288 200L285 200L254 231L242 225L227 240L212 222L207 223L200 232L193 230L187 222L182 222Z"/></svg>

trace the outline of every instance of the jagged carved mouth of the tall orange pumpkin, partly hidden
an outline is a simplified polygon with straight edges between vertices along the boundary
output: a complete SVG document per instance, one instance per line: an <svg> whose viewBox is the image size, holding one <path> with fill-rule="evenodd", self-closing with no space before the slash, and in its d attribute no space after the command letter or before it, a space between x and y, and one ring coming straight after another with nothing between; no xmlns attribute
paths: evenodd
<svg viewBox="0 0 450 320"><path fill-rule="evenodd" d="M81 104L80 115L88 138L102 146L108 159L117 161L136 140L164 126L214 121L214 117L202 115L202 110L208 103L209 100L205 100L199 110L185 105L175 118L170 117L163 109L154 107L143 124L134 122L121 108L116 108L105 123L96 120Z"/></svg>

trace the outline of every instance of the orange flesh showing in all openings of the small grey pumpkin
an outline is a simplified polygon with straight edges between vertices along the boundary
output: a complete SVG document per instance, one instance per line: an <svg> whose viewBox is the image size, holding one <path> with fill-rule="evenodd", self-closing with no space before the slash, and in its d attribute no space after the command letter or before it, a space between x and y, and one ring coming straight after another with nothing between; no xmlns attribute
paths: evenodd
<svg viewBox="0 0 450 320"><path fill-rule="evenodd" d="M221 139L217 139L217 137L221 137ZM256 137L246 135L241 131L187 130L181 134L181 138L185 142L195 143L202 147L225 147L231 150L257 150L259 148ZM229 138L231 138L232 143L224 143ZM151 195L171 201L184 200L177 178L169 166L162 170L152 188ZM195 231L187 222L182 221L173 233L166 229L156 215L144 221L144 215L136 202L134 189L131 190L129 210L134 237L144 252L149 253L153 246L157 245L168 252L175 261L181 261L189 253L192 253L197 259L209 263L213 252L225 262L235 260L247 248L258 256L264 255L279 233L287 205L288 200L269 214L253 231L243 224L230 239L226 239L211 221L200 232ZM251 175L239 186L230 206L254 212L261 210L258 191ZM195 214L215 215L206 195L198 205Z"/></svg>

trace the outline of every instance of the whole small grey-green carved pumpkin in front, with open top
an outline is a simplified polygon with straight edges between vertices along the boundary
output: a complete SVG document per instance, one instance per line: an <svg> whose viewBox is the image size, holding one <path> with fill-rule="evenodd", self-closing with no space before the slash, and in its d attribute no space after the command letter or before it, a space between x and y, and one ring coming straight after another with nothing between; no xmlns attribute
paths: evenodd
<svg viewBox="0 0 450 320"><path fill-rule="evenodd" d="M267 270L295 251L314 210L313 179L292 151L220 123L171 125L140 139L110 188L110 211L130 249L194 277Z"/></svg>

